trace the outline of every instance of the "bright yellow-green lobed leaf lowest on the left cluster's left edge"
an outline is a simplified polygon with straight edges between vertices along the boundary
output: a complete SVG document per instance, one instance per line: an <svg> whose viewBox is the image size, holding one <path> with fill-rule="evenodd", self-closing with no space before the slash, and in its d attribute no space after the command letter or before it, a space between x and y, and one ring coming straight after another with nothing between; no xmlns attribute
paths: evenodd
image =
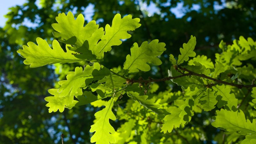
<svg viewBox="0 0 256 144"><path fill-rule="evenodd" d="M46 107L49 108L49 113L56 112L58 109L60 112L64 111L64 108L72 108L76 105L78 101L74 100L73 97L60 97L58 89L49 89L48 92L54 96L44 98L45 101L48 101Z"/></svg>

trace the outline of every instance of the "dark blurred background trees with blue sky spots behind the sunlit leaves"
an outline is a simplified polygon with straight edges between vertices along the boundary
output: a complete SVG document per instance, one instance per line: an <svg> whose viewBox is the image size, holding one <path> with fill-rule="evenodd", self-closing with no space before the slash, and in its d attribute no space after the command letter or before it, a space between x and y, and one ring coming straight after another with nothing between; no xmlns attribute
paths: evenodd
<svg viewBox="0 0 256 144"><path fill-rule="evenodd" d="M134 42L159 39L166 44L166 51L161 57L163 65L155 71L140 73L144 77L162 78L167 76L169 54L178 55L179 48L187 42L190 35L196 36L196 53L214 58L221 40L231 44L239 36L256 39L256 4L255 0L41 0L41 8L36 0L15 6L6 14L8 18L4 28L0 28L0 143L60 143L60 134L65 135L66 143L90 143L89 129L94 120L94 113L99 109L90 105L65 109L63 113L48 113L44 98L49 96L48 89L57 86L57 81L65 79L66 71L74 70L82 64L65 64L62 72L54 66L29 68L23 64L16 52L28 41L35 42L42 37L50 44L54 39L52 23L60 12L74 12L75 16L84 12L89 5L94 5L93 20L100 27L111 24L116 13L122 16L132 14L140 18L142 26L131 32L132 37L120 46L114 46L105 54L103 65L108 68L123 65ZM143 10L142 3L154 3L160 12L152 16ZM171 8L183 3L184 16L176 18ZM198 10L193 5L199 6ZM226 5L217 10L216 5ZM24 25L30 21L33 27ZM165 90L170 82L159 83ZM176 85L173 85L179 89ZM126 99L123 99L124 101ZM195 116L191 124L200 125L209 116ZM121 122L113 123L117 129ZM216 140L220 133L213 127L203 127L207 132L207 143ZM221 139L221 138L220 138Z"/></svg>

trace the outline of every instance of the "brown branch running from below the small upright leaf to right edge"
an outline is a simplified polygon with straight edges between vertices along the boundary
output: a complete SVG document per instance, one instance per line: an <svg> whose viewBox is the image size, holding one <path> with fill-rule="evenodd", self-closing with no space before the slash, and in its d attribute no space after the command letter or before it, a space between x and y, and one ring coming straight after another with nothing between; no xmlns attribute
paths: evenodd
<svg viewBox="0 0 256 144"><path fill-rule="evenodd" d="M204 74L197 74L193 71L190 71L186 68L182 68L180 66L178 66L178 68L180 68L181 70L184 70L186 72L189 72L190 75L194 75L194 76L199 76L199 77L203 77L203 78L206 78L206 79L210 79L212 81L215 81L217 83L220 83L220 84L226 84L226 85L231 85L231 86L235 86L239 89L245 87L245 88L250 88L250 87L256 87L256 84L252 84L252 85L243 85L243 84L233 84L233 83L229 83L229 82L225 82L225 81L222 81L222 80L219 80L219 79L216 79L216 78L212 78L212 77L209 77L209 76L205 76Z"/></svg>

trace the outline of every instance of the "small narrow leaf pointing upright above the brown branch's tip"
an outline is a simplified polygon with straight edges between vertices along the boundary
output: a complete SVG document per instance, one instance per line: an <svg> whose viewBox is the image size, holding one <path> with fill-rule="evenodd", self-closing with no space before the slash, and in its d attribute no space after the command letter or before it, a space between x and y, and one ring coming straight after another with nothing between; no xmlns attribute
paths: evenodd
<svg viewBox="0 0 256 144"><path fill-rule="evenodd" d="M196 46L196 37L190 36L188 43L183 44L183 49L180 48L180 55L178 56L178 65L182 64L184 61L188 61L188 57L195 57L196 52L194 52Z"/></svg>

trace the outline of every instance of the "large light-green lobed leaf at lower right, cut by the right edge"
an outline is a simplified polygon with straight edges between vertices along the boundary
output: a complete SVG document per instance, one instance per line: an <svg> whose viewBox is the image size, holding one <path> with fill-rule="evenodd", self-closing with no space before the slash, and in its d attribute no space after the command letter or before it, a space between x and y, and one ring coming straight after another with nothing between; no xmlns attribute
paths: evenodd
<svg viewBox="0 0 256 144"><path fill-rule="evenodd" d="M253 119L251 123L249 119L245 119L243 111L239 111L217 110L217 116L214 117L215 121L212 126L227 131L225 133L238 132L242 135L256 135L256 120Z"/></svg>

